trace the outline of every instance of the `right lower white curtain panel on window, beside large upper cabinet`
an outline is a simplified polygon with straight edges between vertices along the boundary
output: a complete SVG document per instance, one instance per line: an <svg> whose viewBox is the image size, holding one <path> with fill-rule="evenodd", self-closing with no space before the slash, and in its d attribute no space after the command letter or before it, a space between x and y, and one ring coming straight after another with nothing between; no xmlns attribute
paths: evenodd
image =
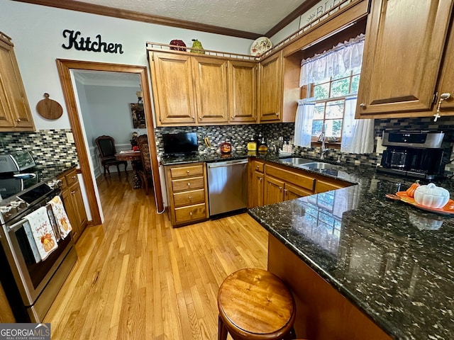
<svg viewBox="0 0 454 340"><path fill-rule="evenodd" d="M374 151L374 120L355 119L356 100L345 98L341 152L370 154Z"/></svg>

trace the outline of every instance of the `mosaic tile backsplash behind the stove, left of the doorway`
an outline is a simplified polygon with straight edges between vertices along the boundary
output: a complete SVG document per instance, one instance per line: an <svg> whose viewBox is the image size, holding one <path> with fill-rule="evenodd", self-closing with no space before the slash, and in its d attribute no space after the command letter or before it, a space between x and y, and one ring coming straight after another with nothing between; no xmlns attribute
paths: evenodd
<svg viewBox="0 0 454 340"><path fill-rule="evenodd" d="M68 142L70 129L35 132L0 132L0 153L30 151L37 164L77 162L76 146Z"/></svg>

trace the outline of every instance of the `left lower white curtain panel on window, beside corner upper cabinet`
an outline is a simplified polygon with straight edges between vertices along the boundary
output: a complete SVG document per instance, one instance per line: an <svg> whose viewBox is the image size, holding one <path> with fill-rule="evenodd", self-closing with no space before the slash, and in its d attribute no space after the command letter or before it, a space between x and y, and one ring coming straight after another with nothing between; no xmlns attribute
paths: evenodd
<svg viewBox="0 0 454 340"><path fill-rule="evenodd" d="M312 120L314 120L315 103L308 103L309 99L300 99L298 101L297 116L295 118L294 145L299 145L300 147L311 147Z"/></svg>

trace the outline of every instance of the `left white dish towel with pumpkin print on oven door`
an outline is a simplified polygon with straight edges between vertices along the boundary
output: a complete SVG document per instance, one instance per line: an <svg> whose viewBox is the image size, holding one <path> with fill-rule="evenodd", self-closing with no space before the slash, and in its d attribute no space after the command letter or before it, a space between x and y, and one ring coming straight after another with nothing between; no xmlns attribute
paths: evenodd
<svg viewBox="0 0 454 340"><path fill-rule="evenodd" d="M55 239L55 234L50 224L48 210L45 207L41 207L27 215L26 219L28 223L24 223L23 226L26 228L28 242L30 242L32 248L38 251L40 260L44 261L58 247L57 239ZM33 246L32 242L34 242L35 246ZM35 257L35 261L39 262L38 260Z"/></svg>

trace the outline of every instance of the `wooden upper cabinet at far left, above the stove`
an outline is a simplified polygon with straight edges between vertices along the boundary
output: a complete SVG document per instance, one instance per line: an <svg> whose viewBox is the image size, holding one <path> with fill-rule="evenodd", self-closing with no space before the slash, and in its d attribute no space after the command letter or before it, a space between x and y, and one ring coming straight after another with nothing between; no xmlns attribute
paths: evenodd
<svg viewBox="0 0 454 340"><path fill-rule="evenodd" d="M35 125L11 38L0 32L0 131L33 131Z"/></svg>

